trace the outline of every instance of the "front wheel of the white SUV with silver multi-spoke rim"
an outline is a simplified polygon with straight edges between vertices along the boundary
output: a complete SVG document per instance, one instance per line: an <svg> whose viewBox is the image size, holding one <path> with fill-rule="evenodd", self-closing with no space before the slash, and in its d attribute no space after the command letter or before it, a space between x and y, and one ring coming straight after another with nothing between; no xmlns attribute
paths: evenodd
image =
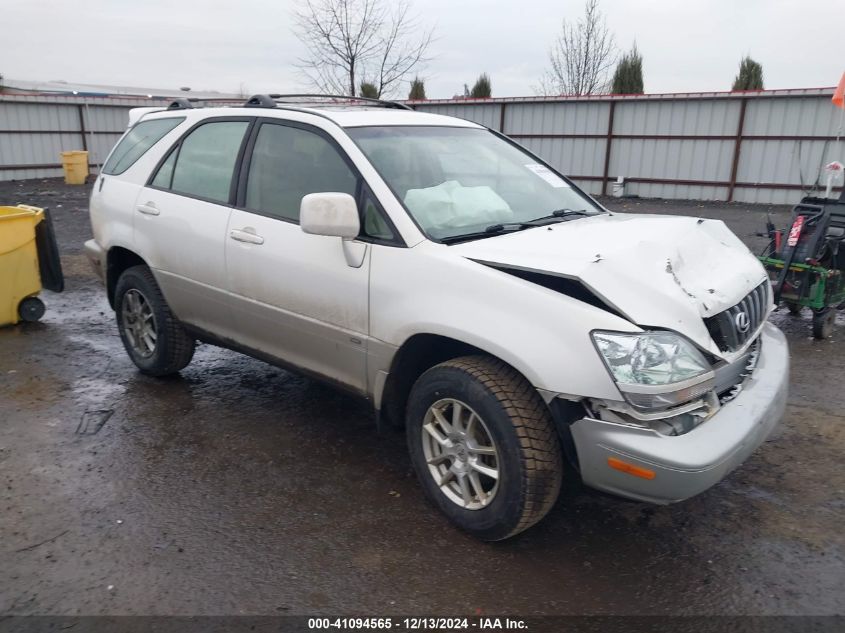
<svg viewBox="0 0 845 633"><path fill-rule="evenodd" d="M454 439L439 422L446 417ZM471 427L463 440L455 431L459 427ZM534 387L499 360L465 356L426 371L411 390L406 432L426 496L455 525L482 540L499 541L528 529L557 500L563 458L554 422ZM485 474L494 470L495 479ZM441 486L444 478L448 483Z"/></svg>

